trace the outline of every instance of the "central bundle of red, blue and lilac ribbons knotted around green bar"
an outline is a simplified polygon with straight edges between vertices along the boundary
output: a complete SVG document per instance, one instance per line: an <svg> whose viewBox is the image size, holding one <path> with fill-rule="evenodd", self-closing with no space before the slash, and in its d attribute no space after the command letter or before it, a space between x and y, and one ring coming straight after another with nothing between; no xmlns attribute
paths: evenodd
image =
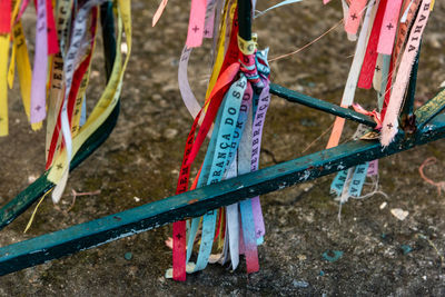
<svg viewBox="0 0 445 297"><path fill-rule="evenodd" d="M179 63L179 87L195 120L186 141L177 194L258 168L270 99L268 50L257 50L255 37L241 37L244 20L238 19L241 11L238 8L243 4L240 1L191 1L188 37ZM254 8L255 3L249 3L248 16L253 16ZM220 26L214 26L219 21ZM218 28L219 31L214 30ZM187 80L187 63L191 49L199 47L202 38L212 38L214 32L216 58L206 100L200 107ZM207 136L210 140L205 159L190 186L190 167ZM175 222L174 267L167 270L167 277L185 280L186 273L201 270L208 263L230 260L236 269L239 255L246 258L247 273L257 271L257 245L263 242L264 235L259 197L208 211L200 218ZM191 261L197 242L198 255Z"/></svg>

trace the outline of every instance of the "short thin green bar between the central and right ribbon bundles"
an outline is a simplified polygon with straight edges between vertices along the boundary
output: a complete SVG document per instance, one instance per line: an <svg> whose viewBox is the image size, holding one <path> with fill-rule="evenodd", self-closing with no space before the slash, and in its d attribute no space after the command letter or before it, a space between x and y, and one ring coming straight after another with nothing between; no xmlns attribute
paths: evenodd
<svg viewBox="0 0 445 297"><path fill-rule="evenodd" d="M349 119L359 123L364 123L366 126L369 126L372 128L376 127L376 122L373 120L373 118L362 115L355 110L347 109L339 107L337 105L333 105L329 102L326 102L324 100L313 98L310 96L299 93L294 90L289 90L285 87L281 87L276 83L270 83L270 93L279 96L290 102L297 102L303 106L307 106L317 110L322 110L325 112L328 112L330 115L342 117L345 119Z"/></svg>

